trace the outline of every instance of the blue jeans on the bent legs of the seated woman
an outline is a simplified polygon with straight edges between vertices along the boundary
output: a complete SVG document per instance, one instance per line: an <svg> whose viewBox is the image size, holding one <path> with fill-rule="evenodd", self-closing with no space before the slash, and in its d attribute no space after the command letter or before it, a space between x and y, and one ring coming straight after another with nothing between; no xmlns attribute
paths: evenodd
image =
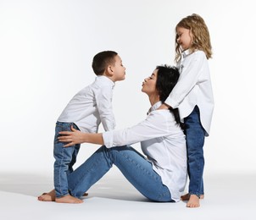
<svg viewBox="0 0 256 220"><path fill-rule="evenodd" d="M159 174L153 171L152 164L131 146L101 146L86 162L70 173L70 194L81 197L113 164L149 200L172 201L169 189L162 183Z"/></svg>

